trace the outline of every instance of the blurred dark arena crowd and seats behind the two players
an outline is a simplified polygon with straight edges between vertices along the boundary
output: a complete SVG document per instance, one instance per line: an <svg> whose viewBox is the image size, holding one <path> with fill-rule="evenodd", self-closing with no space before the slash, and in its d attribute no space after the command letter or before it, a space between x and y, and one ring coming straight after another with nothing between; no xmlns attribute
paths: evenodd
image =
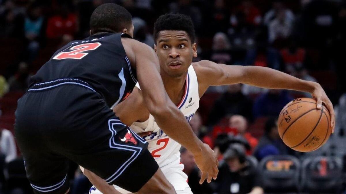
<svg viewBox="0 0 346 194"><path fill-rule="evenodd" d="M0 0L1 194L32 193L13 137L17 100L30 76L58 48L88 37L92 11L107 2L130 11L135 39L149 46L158 16L187 14L197 34L195 61L265 66L317 81L334 104L335 133L319 150L298 153L282 143L276 119L290 100L310 94L209 88L190 123L218 154L220 173L199 185L193 156L182 148L195 194L346 193L345 0ZM91 184L73 162L69 178L72 194L88 193Z"/></svg>

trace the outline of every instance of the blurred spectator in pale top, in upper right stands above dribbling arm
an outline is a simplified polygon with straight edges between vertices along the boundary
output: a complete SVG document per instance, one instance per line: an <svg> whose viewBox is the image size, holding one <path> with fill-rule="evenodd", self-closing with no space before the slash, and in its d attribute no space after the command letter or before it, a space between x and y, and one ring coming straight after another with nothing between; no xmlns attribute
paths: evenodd
<svg viewBox="0 0 346 194"><path fill-rule="evenodd" d="M285 10L279 10L276 18L269 23L268 41L273 43L276 40L286 39L291 35L292 21L286 18Z"/></svg>

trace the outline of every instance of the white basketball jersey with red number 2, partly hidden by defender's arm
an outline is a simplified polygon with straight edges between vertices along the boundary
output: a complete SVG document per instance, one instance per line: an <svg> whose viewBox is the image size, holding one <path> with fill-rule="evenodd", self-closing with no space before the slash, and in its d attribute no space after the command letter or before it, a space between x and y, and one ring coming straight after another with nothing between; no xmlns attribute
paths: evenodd
<svg viewBox="0 0 346 194"><path fill-rule="evenodd" d="M139 88L138 83L136 87ZM178 108L189 122L194 113L197 111L198 107L198 81L196 73L192 65L190 65L188 73L186 74L185 94L181 99ZM151 135L144 137L144 139L146 139L149 143L148 149L150 153L152 153L160 168L164 168L166 165L172 164L173 161L179 160L180 162L179 149L181 145L172 138L168 137L163 130L158 127L152 115L149 115L149 119L145 122L133 123L131 128L135 133L152 132Z"/></svg>

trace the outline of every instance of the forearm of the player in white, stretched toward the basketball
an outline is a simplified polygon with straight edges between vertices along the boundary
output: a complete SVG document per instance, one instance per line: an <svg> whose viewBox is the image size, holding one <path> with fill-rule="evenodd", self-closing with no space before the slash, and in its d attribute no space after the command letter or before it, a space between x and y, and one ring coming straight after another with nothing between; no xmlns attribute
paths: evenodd
<svg viewBox="0 0 346 194"><path fill-rule="evenodd" d="M267 67L246 66L244 67L243 81L262 88L290 89L312 93L317 83L298 79L284 72Z"/></svg>

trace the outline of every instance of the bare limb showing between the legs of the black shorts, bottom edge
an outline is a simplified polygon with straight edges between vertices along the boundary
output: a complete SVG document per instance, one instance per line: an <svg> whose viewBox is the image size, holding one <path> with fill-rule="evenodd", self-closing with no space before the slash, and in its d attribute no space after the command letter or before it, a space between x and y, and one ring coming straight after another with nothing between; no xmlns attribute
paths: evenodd
<svg viewBox="0 0 346 194"><path fill-rule="evenodd" d="M118 192L112 185L108 185L106 181L104 181L102 178L94 174L93 172L84 169L83 174L88 177L91 184L93 184L98 190L100 190L104 194L121 194Z"/></svg>

